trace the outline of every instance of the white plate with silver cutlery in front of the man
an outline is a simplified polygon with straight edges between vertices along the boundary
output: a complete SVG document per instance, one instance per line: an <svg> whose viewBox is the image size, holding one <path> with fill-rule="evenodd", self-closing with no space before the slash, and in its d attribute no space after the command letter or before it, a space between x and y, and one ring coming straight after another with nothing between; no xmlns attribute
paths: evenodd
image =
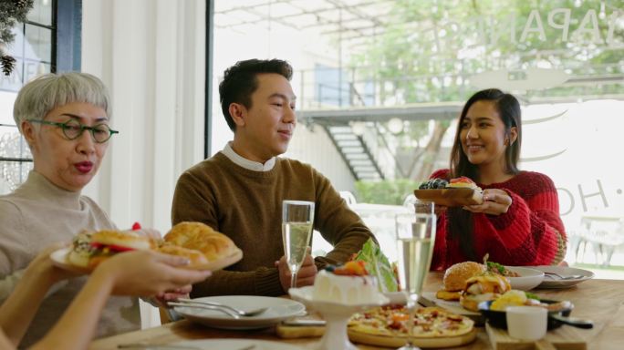
<svg viewBox="0 0 624 350"><path fill-rule="evenodd" d="M259 307L268 308L262 314L241 318L233 318L219 311L193 308L189 306L176 306L174 308L176 313L182 314L182 316L192 322L223 329L265 328L270 325L277 324L288 317L302 315L306 311L306 307L303 304L294 300L272 298L268 296L223 295L207 296L203 298L196 298L195 300L226 304L244 311L255 310Z"/></svg>

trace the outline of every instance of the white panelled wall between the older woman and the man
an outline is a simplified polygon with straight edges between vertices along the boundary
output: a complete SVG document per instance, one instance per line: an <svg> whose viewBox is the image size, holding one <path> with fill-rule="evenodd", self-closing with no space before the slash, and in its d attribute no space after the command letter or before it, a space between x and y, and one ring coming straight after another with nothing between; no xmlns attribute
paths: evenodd
<svg viewBox="0 0 624 350"><path fill-rule="evenodd" d="M110 89L120 130L85 194L120 228L171 228L175 182L203 159L205 1L84 0L82 71ZM143 324L156 324L143 307Z"/></svg>

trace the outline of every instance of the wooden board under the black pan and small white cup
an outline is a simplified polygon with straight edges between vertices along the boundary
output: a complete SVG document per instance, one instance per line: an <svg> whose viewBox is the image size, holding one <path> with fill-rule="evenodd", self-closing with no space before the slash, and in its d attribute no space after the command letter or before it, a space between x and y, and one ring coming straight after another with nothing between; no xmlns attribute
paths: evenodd
<svg viewBox="0 0 624 350"><path fill-rule="evenodd" d="M537 348L536 342L518 340L507 334L507 331L485 324L485 331L490 338L494 350L530 350ZM576 328L562 325L548 331L542 344L550 343L558 350L586 350L588 345L575 332ZM545 341L545 342L544 342ZM541 345L540 345L541 346Z"/></svg>

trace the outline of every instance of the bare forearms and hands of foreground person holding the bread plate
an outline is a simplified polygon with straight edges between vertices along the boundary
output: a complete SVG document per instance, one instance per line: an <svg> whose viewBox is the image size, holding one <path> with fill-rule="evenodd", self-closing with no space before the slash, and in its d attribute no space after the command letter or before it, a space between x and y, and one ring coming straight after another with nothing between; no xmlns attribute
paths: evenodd
<svg viewBox="0 0 624 350"><path fill-rule="evenodd" d="M49 258L60 245L40 252L0 306L0 348L20 343L48 290L72 273ZM203 281L209 271L183 268L188 259L159 252L122 252L100 263L56 325L31 349L86 349L110 295L151 296Z"/></svg>

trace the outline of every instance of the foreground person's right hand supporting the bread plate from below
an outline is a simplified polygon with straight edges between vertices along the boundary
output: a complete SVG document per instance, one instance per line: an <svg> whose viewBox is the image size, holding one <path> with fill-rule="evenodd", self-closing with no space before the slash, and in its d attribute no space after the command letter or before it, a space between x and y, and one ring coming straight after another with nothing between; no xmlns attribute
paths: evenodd
<svg viewBox="0 0 624 350"><path fill-rule="evenodd" d="M102 262L91 278L111 278L116 295L164 296L168 291L186 294L192 283L202 282L210 271L184 269L187 259L160 252L122 252Z"/></svg>

